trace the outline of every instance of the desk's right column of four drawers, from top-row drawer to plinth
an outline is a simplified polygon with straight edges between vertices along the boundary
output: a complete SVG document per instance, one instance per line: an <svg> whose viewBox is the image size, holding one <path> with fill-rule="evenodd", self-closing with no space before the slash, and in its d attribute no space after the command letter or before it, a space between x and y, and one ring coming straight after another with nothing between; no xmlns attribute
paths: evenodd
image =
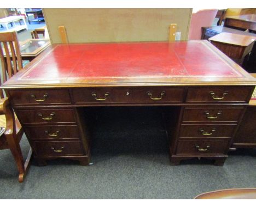
<svg viewBox="0 0 256 208"><path fill-rule="evenodd" d="M185 98L188 105L181 109L176 133L170 142L171 164L179 164L188 158L206 157L222 166L252 89L189 87Z"/></svg>

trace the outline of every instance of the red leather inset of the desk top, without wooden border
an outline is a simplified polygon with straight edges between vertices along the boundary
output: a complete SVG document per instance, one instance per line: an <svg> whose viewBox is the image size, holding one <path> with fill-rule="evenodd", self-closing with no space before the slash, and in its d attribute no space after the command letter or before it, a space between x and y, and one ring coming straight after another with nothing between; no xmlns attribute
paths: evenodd
<svg viewBox="0 0 256 208"><path fill-rule="evenodd" d="M57 45L22 79L241 76L196 42Z"/></svg>

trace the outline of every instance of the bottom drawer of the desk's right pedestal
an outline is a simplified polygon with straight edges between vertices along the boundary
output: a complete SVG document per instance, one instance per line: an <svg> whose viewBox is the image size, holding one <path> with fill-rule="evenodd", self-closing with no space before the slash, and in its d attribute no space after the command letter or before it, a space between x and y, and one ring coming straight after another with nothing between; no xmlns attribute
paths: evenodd
<svg viewBox="0 0 256 208"><path fill-rule="evenodd" d="M228 140L179 140L177 155L225 154Z"/></svg>

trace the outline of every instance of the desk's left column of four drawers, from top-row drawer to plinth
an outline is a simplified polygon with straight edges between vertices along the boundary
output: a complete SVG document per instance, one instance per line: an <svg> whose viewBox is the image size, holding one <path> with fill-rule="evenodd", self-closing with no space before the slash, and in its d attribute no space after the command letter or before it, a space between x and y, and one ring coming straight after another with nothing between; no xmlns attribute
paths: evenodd
<svg viewBox="0 0 256 208"><path fill-rule="evenodd" d="M10 99L40 166L55 158L90 161L86 119L68 89L13 90Z"/></svg>

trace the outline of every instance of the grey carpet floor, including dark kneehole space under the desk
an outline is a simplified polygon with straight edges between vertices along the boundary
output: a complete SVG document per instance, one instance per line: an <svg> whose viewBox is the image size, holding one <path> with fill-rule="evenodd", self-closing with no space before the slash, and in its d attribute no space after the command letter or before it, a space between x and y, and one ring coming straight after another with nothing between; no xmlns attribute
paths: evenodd
<svg viewBox="0 0 256 208"><path fill-rule="evenodd" d="M9 150L0 151L2 199L192 199L202 192L256 187L256 150L230 152L223 167L197 159L170 166L161 108L96 108L93 163L34 162L18 182ZM119 119L115 119L118 117ZM24 155L29 149L21 141Z"/></svg>

